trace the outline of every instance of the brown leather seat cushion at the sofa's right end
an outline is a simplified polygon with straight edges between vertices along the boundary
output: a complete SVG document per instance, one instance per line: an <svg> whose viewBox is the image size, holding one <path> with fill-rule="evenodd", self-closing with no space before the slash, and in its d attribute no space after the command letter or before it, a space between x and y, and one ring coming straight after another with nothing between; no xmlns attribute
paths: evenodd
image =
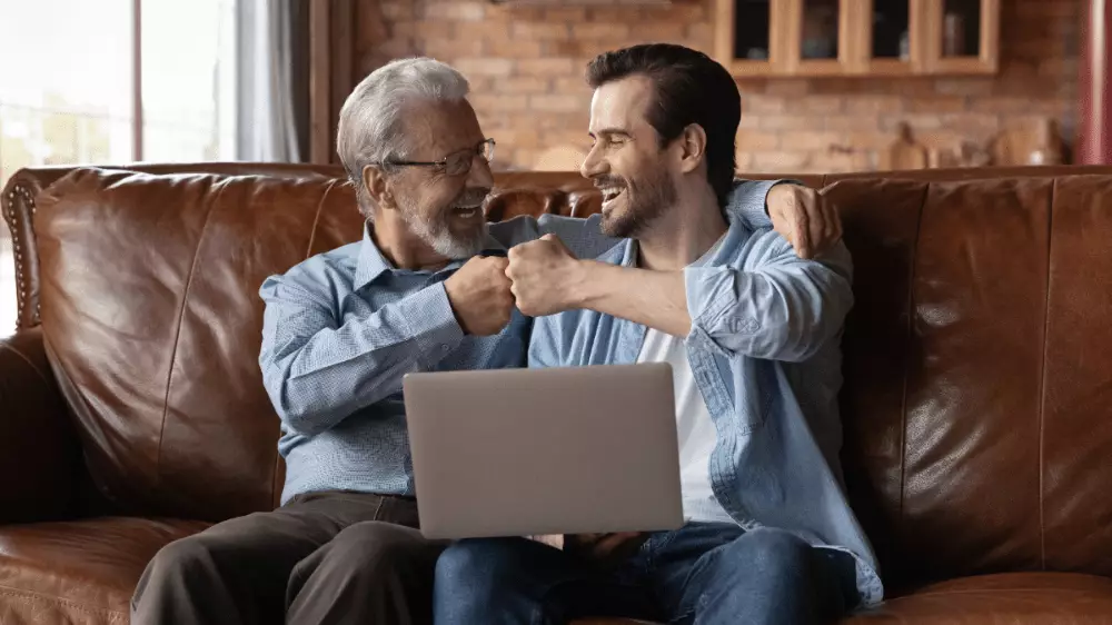
<svg viewBox="0 0 1112 625"><path fill-rule="evenodd" d="M933 584L843 621L901 623L1104 624L1112 614L1112 579L1071 573L1009 573Z"/></svg>

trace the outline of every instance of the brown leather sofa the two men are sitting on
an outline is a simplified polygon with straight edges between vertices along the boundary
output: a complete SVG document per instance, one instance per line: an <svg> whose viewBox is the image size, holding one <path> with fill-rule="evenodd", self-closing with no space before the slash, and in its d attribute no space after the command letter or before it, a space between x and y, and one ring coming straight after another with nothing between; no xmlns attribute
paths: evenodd
<svg viewBox="0 0 1112 625"><path fill-rule="evenodd" d="M126 623L159 547L277 504L257 289L358 237L338 176L12 178L0 623ZM1112 623L1112 169L804 180L856 264L843 460L888 599L848 622ZM499 186L493 219L598 208L575 175Z"/></svg>

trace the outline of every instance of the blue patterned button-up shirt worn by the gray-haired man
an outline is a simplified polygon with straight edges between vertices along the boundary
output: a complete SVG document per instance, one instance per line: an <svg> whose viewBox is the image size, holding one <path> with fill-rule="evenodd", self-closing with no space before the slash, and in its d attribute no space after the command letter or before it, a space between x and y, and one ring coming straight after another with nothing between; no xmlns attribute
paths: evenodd
<svg viewBox="0 0 1112 625"><path fill-rule="evenodd" d="M739 218L767 226L765 196L775 182L742 182ZM505 250L553 232L579 256L618 239L598 217L519 217L490 225L487 248ZM358 490L413 495L401 378L411 371L524 367L532 319L514 311L494 336L465 336L444 290L463 262L439 271L393 267L369 231L360 242L314 256L271 276L259 365L281 418L286 458L282 503L300 493Z"/></svg>

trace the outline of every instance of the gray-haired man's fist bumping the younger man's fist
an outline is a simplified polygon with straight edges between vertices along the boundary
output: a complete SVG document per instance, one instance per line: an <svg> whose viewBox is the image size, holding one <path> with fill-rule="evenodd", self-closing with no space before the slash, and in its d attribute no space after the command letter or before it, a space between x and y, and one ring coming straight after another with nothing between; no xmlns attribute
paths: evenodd
<svg viewBox="0 0 1112 625"><path fill-rule="evenodd" d="M466 334L498 334L509 323L514 296L509 292L507 265L505 258L476 256L444 281L456 320Z"/></svg>

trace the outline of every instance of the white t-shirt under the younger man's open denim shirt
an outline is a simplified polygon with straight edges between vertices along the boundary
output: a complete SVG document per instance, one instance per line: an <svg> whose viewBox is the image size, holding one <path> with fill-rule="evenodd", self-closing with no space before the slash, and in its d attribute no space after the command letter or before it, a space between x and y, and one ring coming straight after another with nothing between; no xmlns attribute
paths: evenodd
<svg viewBox="0 0 1112 625"><path fill-rule="evenodd" d="M704 523L733 523L711 489L711 453L718 435L703 394L695 384L684 339L647 328L637 361L672 365L684 517Z"/></svg>

